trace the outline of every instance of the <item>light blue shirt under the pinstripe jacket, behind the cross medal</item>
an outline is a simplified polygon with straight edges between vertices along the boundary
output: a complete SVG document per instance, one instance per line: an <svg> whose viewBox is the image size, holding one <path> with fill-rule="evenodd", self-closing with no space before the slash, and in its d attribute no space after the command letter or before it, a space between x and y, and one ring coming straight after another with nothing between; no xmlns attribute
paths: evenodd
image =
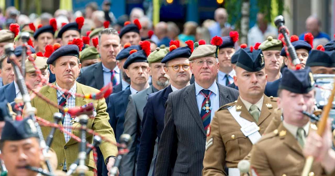
<svg viewBox="0 0 335 176"><path fill-rule="evenodd" d="M203 90L204 88L201 87L196 82L194 82L194 85L195 85L195 96L197 98L197 104L198 104L198 109L199 109L199 114L200 114L201 108L202 108L201 105L205 98L202 94L200 94L200 91ZM208 90L212 92L212 94L209 96L210 105L212 107L211 114L210 114L210 120L212 121L214 112L218 110L220 107L219 87L217 86L216 81L213 82L213 84L208 88Z"/></svg>

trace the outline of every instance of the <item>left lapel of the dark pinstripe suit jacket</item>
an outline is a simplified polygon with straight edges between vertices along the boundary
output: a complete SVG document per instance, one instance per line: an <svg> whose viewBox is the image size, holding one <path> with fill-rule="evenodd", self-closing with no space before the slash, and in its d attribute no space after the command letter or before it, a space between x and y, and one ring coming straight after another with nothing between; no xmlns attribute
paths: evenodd
<svg viewBox="0 0 335 176"><path fill-rule="evenodd" d="M198 124L201 131L206 135L204 125L202 123L199 109L197 105L197 98L195 97L195 85L194 83L186 87L187 95L184 97L187 107L189 108L192 117L194 118L195 122Z"/></svg>

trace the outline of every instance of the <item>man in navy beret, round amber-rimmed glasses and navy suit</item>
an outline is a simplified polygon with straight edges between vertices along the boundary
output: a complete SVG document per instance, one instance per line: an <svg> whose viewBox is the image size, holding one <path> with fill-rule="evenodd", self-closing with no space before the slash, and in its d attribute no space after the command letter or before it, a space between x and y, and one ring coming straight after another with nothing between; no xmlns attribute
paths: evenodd
<svg viewBox="0 0 335 176"><path fill-rule="evenodd" d="M193 42L187 42L193 49ZM153 175L152 160L156 159L157 146L164 128L165 102L171 92L177 91L190 84L192 72L190 70L191 48L189 46L174 49L170 46L170 52L161 60L165 64L164 70L170 77L170 86L150 94L143 109L142 135L138 152L137 176ZM156 140L158 137L158 141ZM157 142L156 142L157 141ZM154 163L153 163L154 164ZM150 169L150 170L149 170Z"/></svg>

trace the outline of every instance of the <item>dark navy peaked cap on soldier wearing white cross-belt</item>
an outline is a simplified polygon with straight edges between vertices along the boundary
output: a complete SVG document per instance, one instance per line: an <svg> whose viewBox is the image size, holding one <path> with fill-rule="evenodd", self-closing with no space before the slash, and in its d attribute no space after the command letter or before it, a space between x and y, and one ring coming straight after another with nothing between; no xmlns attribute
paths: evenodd
<svg viewBox="0 0 335 176"><path fill-rule="evenodd" d="M240 51L236 66L241 67L249 72L256 72L264 68L264 56L261 49Z"/></svg>

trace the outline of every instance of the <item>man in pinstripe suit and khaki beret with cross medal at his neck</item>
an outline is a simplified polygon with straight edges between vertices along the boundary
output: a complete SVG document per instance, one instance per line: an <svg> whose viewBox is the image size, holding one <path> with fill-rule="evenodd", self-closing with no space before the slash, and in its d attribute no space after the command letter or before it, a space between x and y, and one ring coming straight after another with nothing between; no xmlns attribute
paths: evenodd
<svg viewBox="0 0 335 176"><path fill-rule="evenodd" d="M155 175L201 176L206 131L214 112L239 96L237 90L215 81L221 37L214 37L211 44L195 43L196 48L189 57L195 83L172 92L167 98Z"/></svg>

